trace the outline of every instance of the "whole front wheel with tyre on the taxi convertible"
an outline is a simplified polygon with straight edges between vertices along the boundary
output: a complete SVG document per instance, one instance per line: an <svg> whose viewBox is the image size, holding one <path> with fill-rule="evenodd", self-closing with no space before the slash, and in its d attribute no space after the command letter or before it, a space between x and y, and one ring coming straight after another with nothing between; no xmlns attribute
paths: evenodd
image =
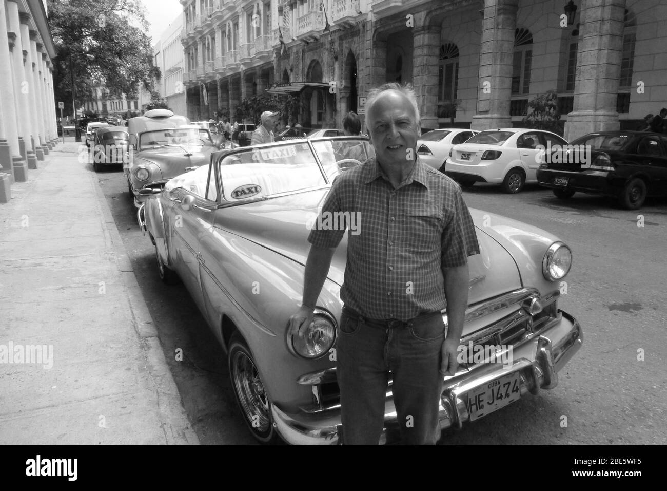
<svg viewBox="0 0 667 491"><path fill-rule="evenodd" d="M259 442L279 441L271 416L271 401L255 366L255 359L243 337L233 333L229 341L229 377L243 421Z"/></svg>

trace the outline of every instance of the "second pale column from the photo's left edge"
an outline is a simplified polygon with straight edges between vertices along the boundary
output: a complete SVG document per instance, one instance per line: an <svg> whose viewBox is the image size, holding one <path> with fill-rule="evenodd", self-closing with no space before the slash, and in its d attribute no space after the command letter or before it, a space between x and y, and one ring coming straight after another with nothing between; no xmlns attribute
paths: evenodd
<svg viewBox="0 0 667 491"><path fill-rule="evenodd" d="M25 160L29 168L37 168L37 157L31 146L31 134L33 132L32 118L30 117L29 86L25 76L25 55L27 51L23 48L23 37L21 36L21 20L19 16L19 4L17 0L8 0L7 13L9 14L9 29L13 33L13 46L10 43L12 53L13 79L15 88L15 108L17 114L17 130L19 132L19 151L22 160ZM9 36L12 38L12 36ZM24 84L25 82L25 84Z"/></svg>

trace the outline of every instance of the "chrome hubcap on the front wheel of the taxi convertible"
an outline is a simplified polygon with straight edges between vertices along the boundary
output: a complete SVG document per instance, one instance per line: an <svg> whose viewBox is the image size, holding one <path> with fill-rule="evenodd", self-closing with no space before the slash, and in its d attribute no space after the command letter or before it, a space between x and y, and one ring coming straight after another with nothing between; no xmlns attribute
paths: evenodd
<svg viewBox="0 0 667 491"><path fill-rule="evenodd" d="M255 364L245 353L235 353L232 361L232 377L245 417L253 429L267 432L271 427L269 399L266 397Z"/></svg>

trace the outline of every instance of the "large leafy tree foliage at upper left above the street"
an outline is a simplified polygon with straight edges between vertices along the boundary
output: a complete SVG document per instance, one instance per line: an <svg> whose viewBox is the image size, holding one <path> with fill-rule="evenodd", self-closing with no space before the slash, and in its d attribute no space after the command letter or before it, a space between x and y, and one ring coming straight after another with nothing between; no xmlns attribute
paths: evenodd
<svg viewBox="0 0 667 491"><path fill-rule="evenodd" d="M153 89L161 73L153 65L148 22L138 0L48 0L55 43L53 79L57 100L71 102L71 73L77 104L90 100L95 85L111 97L137 96L139 84ZM81 54L83 53L83 55ZM93 55L90 60L85 54ZM68 104L69 105L69 104Z"/></svg>

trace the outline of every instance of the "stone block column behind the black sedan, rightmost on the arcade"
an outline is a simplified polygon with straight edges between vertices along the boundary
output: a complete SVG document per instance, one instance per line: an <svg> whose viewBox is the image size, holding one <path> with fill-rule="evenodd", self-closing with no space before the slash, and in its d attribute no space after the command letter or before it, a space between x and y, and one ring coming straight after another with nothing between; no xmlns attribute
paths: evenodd
<svg viewBox="0 0 667 491"><path fill-rule="evenodd" d="M574 109L565 124L568 141L587 133L620 128L616 97L625 6L625 0L582 1Z"/></svg>

